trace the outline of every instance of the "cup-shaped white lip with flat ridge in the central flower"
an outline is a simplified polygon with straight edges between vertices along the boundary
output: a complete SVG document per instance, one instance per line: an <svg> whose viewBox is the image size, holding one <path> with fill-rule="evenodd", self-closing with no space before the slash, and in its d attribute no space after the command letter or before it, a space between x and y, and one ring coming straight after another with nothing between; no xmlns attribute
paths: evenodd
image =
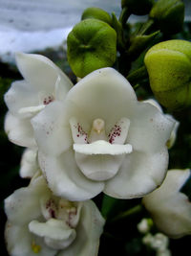
<svg viewBox="0 0 191 256"><path fill-rule="evenodd" d="M117 174L124 154L132 152L132 146L98 140L91 144L74 144L74 151L81 172L90 179L104 181Z"/></svg>

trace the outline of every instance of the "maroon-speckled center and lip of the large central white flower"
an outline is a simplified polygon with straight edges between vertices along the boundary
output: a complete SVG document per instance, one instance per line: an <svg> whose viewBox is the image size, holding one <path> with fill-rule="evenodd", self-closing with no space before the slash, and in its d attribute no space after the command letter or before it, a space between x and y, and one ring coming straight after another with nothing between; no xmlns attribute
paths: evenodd
<svg viewBox="0 0 191 256"><path fill-rule="evenodd" d="M133 151L132 145L125 144L130 126L125 117L111 128L108 135L105 122L100 118L93 121L89 136L76 118L71 118L70 125L76 164L88 178L96 181L112 178L117 174L124 155Z"/></svg>

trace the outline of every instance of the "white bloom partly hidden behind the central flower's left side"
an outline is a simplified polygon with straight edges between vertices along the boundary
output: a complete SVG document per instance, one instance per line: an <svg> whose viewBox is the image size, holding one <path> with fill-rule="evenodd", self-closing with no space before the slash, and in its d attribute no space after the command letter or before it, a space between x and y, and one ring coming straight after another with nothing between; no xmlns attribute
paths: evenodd
<svg viewBox="0 0 191 256"><path fill-rule="evenodd" d="M5 94L5 130L11 142L34 148L31 118L54 100L64 100L73 83L49 58L18 53L16 63L24 80L14 81Z"/></svg>

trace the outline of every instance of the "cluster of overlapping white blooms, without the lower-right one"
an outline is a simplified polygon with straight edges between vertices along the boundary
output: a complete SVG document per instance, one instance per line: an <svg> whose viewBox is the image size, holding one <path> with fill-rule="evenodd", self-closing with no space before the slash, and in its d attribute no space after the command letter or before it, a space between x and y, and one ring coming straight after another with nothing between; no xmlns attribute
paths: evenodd
<svg viewBox="0 0 191 256"><path fill-rule="evenodd" d="M90 199L144 197L147 207L167 173L178 124L155 102L139 102L113 68L73 86L48 58L17 54L16 61L24 80L5 95L5 129L27 147L20 175L32 180L6 199L8 249L97 255L104 220Z"/></svg>

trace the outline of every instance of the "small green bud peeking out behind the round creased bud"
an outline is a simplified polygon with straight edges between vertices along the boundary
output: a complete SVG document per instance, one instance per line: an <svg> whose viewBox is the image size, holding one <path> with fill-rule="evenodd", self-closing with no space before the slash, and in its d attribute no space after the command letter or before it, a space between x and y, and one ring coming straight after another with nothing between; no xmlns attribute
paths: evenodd
<svg viewBox="0 0 191 256"><path fill-rule="evenodd" d="M112 25L112 18L108 12L105 12L104 10L96 7L90 7L87 8L81 16L81 19L87 19L87 18L95 18L98 20L102 20L109 25Z"/></svg>

